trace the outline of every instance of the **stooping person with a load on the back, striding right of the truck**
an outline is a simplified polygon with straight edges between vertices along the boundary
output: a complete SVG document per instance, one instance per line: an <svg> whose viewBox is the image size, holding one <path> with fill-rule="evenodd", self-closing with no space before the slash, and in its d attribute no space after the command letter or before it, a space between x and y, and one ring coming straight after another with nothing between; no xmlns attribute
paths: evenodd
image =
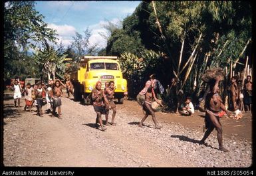
<svg viewBox="0 0 256 176"><path fill-rule="evenodd" d="M142 128L143 122L146 120L146 118L148 118L149 115L151 115L152 119L153 119L153 122L156 126L156 129L161 129L162 126L158 125L158 122L156 121L155 112L152 108L153 98L154 98L154 100L156 100L156 102L158 104L163 106L162 103L160 102L160 100L158 100L158 98L156 98L156 94L154 92L154 82L151 82L151 85L148 87L148 89L146 91L147 92L145 94L145 101L142 104L142 108L146 112L146 114L145 114L144 118L142 118L142 121L140 122L140 124L138 124L138 126Z"/></svg>

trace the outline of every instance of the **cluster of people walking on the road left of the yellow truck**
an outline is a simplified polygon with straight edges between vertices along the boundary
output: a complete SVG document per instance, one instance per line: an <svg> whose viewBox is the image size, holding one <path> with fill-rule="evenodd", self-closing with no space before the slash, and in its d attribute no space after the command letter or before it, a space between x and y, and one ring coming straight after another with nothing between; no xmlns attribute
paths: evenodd
<svg viewBox="0 0 256 176"><path fill-rule="evenodd" d="M31 85L30 82L25 85L25 88L21 88L21 84L19 83L19 79L15 79L15 83L13 85L14 90L14 104L15 107L21 107L20 100L22 94L25 95L25 107L26 111L29 108L29 112L31 112L32 107L35 105L37 107L37 115L43 116L42 107L47 104L47 110L45 111L47 114L52 113L51 116L57 116L61 119L61 96L63 96L62 88L66 88L67 86L61 82L61 80L49 80L49 84L45 85L42 82L37 82L35 85ZM58 108L58 114L56 113L56 109Z"/></svg>

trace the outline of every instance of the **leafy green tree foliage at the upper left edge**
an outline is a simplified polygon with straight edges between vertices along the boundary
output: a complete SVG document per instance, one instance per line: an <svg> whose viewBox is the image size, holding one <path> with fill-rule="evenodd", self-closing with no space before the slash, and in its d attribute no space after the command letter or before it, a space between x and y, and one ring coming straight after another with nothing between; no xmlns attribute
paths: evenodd
<svg viewBox="0 0 256 176"><path fill-rule="evenodd" d="M49 29L33 1L8 1L4 7L4 79L21 74L36 76L37 66L28 56L30 48L54 42L56 31ZM31 66L31 67L29 67Z"/></svg>

